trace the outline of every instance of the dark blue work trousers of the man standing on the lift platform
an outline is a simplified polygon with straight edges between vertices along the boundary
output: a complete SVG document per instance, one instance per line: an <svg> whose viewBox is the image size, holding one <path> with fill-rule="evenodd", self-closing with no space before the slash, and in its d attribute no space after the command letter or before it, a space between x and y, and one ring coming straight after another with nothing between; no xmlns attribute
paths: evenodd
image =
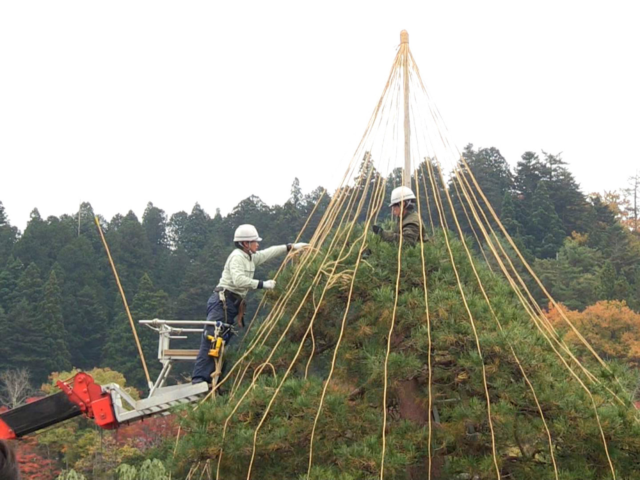
<svg viewBox="0 0 640 480"><path fill-rule="evenodd" d="M207 322L221 321L232 324L238 314L238 307L234 304L234 301L228 297L226 303L227 316L225 317L225 309L222 301L220 301L220 294L218 294L218 292L213 292L207 301ZM211 374L216 370L216 360L214 357L209 356L211 340L207 340L207 335L213 335L215 333L215 328L216 327L214 325L207 325L202 332L200 351L198 351L196 364L193 366L191 383L199 383L200 381L208 381L211 383ZM230 342L230 335L228 335L227 338L224 338L224 340L225 349L227 349Z"/></svg>

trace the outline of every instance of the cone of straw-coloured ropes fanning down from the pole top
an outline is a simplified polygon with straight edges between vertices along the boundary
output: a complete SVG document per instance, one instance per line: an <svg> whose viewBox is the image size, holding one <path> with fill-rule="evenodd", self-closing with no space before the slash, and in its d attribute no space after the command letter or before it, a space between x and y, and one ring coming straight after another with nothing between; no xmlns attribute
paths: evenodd
<svg viewBox="0 0 640 480"><path fill-rule="evenodd" d="M405 94L410 92L411 95ZM403 95L404 94L404 95ZM403 99L410 98L408 109L406 108L406 102ZM406 115L408 111L408 115ZM406 134L406 129L411 129L410 134ZM401 140L404 139L404 142ZM228 373L221 380L220 385L230 382L230 395L228 402L232 405L231 412L227 416L223 424L222 436L223 440L228 433L230 422L234 419L234 415L241 407L243 402L246 401L250 392L257 385L257 381L265 371L269 376L273 376L277 380L277 386L273 390L273 394L266 405L263 412L260 412L260 420L253 432L253 447L251 453L251 459L246 466L246 478L252 477L252 471L254 467L254 460L257 453L257 438L260 433L260 429L266 422L269 422L269 413L273 406L278 402L278 396L282 390L282 386L285 381L291 375L292 369L297 362L300 361L303 346L307 339L312 342L313 348L306 362L305 379L307 378L308 369L314 351L316 349L314 339L314 321L317 318L319 310L323 307L326 293L329 289L337 284L344 285L348 292L346 305L344 307L344 313L342 314L341 321L339 323L339 331L337 333L337 341L333 346L332 360L330 363L330 369L326 378L324 378L324 384L321 396L317 401L316 415L313 422L310 424L310 440L308 447L307 458L307 478L310 478L312 472L312 465L314 463L314 440L318 435L317 425L318 421L323 414L324 400L327 393L327 388L332 382L337 357L340 352L340 346L343 339L344 332L348 328L348 316L352 303L352 292L354 282L356 281L356 275L358 269L362 267L362 264L366 263L363 258L364 252L367 250L367 232L370 230L370 226L378 218L378 213L383 205L385 205L385 195L389 188L393 188L406 182L404 175L406 172L399 166L404 164L404 159L410 159L410 170L413 177L412 188L417 195L417 207L419 209L419 216L421 221L425 212L422 210L422 199L426 202L426 208L428 210L428 227L426 231L430 231L431 234L435 234L436 228L441 229L444 233L444 239L447 247L447 258L443 261L451 263L452 271L455 275L456 285L458 287L458 294L460 300L467 312L467 321L470 324L470 328L473 332L473 338L475 341L477 355L481 362L481 371L484 388L484 401L486 408L486 420L491 435L492 443L492 456L493 465L495 466L495 476L500 479L500 466L498 454L496 451L495 436L493 431L493 414L492 414L492 401L490 396L490 387L486 371L485 360L483 358L484 351L481 344L481 336L478 332L478 326L472 309L468 305L467 294L465 293L465 287L461 282L460 275L458 273L458 265L452 252L451 239L449 236L456 235L459 237L461 244L463 245L464 252L467 255L467 259L470 262L470 266L473 271L473 278L475 279L476 286L481 292L482 299L490 312L499 332L506 337L508 342L509 351L513 356L515 364L522 373L522 376L527 384L527 388L531 392L535 404L537 406L538 415L540 416L541 424L543 425L544 435L548 441L548 452L552 461L554 470L554 476L559 479L558 468L561 465L556 465L556 457L554 455L554 439L552 433L548 428L547 419L543 413L543 408L538 401L536 395L536 388L527 375L527 371L521 362L523 355L527 352L520 351L518 353L518 345L509 339L506 335L500 319L494 311L492 300L489 298L486 289L476 269L477 257L472 254L473 245L468 244L467 238L463 234L463 228L461 227L461 221L458 219L458 213L452 196L460 202L461 208L464 214L464 219L468 223L468 226L472 230L473 237L476 241L475 247L478 252L481 253L484 261L488 264L490 269L499 269L500 273L510 285L511 289L515 293L517 300L524 312L531 319L532 324L536 330L540 332L545 342L547 342L549 348L554 352L557 357L557 361L560 365L566 369L568 374L579 383L580 387L588 395L591 404L593 406L593 418L598 424L600 436L602 440L602 448L604 449L605 456L607 458L609 469L611 470L611 476L616 478L616 468L614 461L612 461L609 455L609 449L607 445L607 435L605 434L604 427L600 422L600 416L598 414L598 405L593 394L593 388L596 386L604 387L609 392L610 397L606 399L607 402L617 402L623 405L629 405L630 401L628 396L620 398L611 388L607 385L602 385L602 381L597 378L593 372L589 371L575 355L568 346L564 343L563 339L559 336L554 326L548 321L545 316L545 312L540 308L538 303L534 300L534 296L527 287L525 279L518 273L518 266L524 268L525 271L531 275L531 278L543 291L545 296L554 307L561 312L561 317L568 325L580 341L589 349L591 354L596 360L604 367L606 371L609 371L609 367L605 364L604 360L598 356L596 351L588 345L588 342L577 331L575 326L564 315L562 308L557 305L556 301L548 294L548 291L541 284L538 277L532 271L529 264L527 264L523 255L518 251L515 243L509 237L506 228L500 223L500 220L493 211L492 206L489 204L486 196L481 191L477 180L472 174L471 168L466 163L465 159L461 156L460 151L451 145L448 132L442 121L438 109L435 107L429 94L422 83L419 70L413 60L413 56L409 50L408 42L403 42L397 52L396 58L390 70L390 74L383 89L382 95L378 104L372 112L369 124L365 129L365 132L360 140L358 148L356 148L351 161L344 173L340 182L339 188L332 196L330 203L324 212L323 218L319 222L316 231L313 232L310 239L310 248L303 252L296 253L295 261L291 262L290 268L292 269L291 280L287 284L285 291L273 300L273 307L268 312L262 323L257 326L257 330L252 333L250 342L242 351L241 356L228 369ZM445 178L444 172L451 172L447 178ZM387 185L385 178L391 175L391 178L395 181L393 185ZM447 181L449 187L447 187ZM433 210L433 212L432 212ZM447 220L449 219L449 220ZM452 225L449 222L453 222ZM359 223L364 225L362 234L354 240L351 238L355 227ZM305 228L307 224L305 224ZM304 228L303 228L304 230ZM305 232L300 232L302 236ZM500 235L502 237L500 237ZM510 248L515 252L514 255L509 255L503 246L502 239L506 239ZM422 237L422 230L420 232L420 241ZM400 235L400 241L397 245L397 275L396 283L394 285L394 303L392 309L392 316L390 323L388 324L388 333L385 340L387 345L385 352L385 361L383 365L384 369L384 381L382 392L382 404L385 406L381 415L381 458L380 458L380 479L383 480L385 475L385 452L386 452L386 431L387 431L387 394L388 394L388 360L392 351L392 336L394 335L394 325L396 323L396 308L399 300L399 282L402 273L401 252L403 249L403 236ZM348 258L353 252L357 252L355 265L350 268L342 269L342 262ZM432 364L431 364L431 321L429 317L429 277L425 268L425 255L424 244L421 245L420 255L422 260L422 290L425 303L425 319L426 329L428 333L428 408L429 413L433 406L433 398L431 392L432 381ZM511 258L511 257L514 258ZM287 257L283 266L289 263L291 257ZM491 260L491 261L490 261ZM493 263L492 265L492 262ZM320 264L320 268L315 271L311 271L311 267ZM278 270L280 273L282 269ZM314 273L315 272L315 273ZM310 284L307 286L303 282L303 278L311 276ZM304 286L303 286L304 285ZM292 298L300 298L297 305L289 305ZM300 312L305 305L312 305L312 314L308 317L301 317ZM261 308L264 306L263 301L260 302L259 311L256 312L256 316L253 317L250 323L249 329L253 328L255 319L261 312ZM288 310L287 310L288 309ZM287 314L286 312L292 312ZM289 316L287 318L287 316ZM278 349L282 345L283 340L287 337L287 334L291 332L293 325L305 326L304 333L301 337L297 350L289 362L289 365L285 371L276 371L273 366L273 359L277 358ZM268 355L257 355L257 351L268 345L273 332L280 332L277 339L269 350ZM249 381L246 378L246 373L249 369L253 369L253 375ZM611 373L611 372L609 372ZM431 448L431 436L432 436L433 422L431 415L428 419L428 477L431 478L433 458L433 451ZM218 454L218 467L216 468L216 479L220 478L220 466L223 459L224 451L220 451ZM205 467L196 467L195 465L189 472L189 475L195 474L198 468L206 468L207 475L210 472L209 461L206 462ZM203 470L204 473L204 470Z"/></svg>

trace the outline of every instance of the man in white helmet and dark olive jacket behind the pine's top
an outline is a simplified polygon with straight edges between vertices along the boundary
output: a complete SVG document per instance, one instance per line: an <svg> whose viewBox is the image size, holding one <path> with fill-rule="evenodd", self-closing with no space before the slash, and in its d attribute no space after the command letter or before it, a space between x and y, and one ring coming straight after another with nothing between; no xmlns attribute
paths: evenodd
<svg viewBox="0 0 640 480"><path fill-rule="evenodd" d="M388 242L400 241L400 229L402 229L403 243L416 244L420 241L420 228L422 228L422 239L426 240L427 235L424 230L424 223L420 221L418 212L415 211L415 195L408 187L397 187L391 192L391 213L398 219L393 232L383 230L379 225L373 225L375 234ZM402 218L400 216L402 215Z"/></svg>

